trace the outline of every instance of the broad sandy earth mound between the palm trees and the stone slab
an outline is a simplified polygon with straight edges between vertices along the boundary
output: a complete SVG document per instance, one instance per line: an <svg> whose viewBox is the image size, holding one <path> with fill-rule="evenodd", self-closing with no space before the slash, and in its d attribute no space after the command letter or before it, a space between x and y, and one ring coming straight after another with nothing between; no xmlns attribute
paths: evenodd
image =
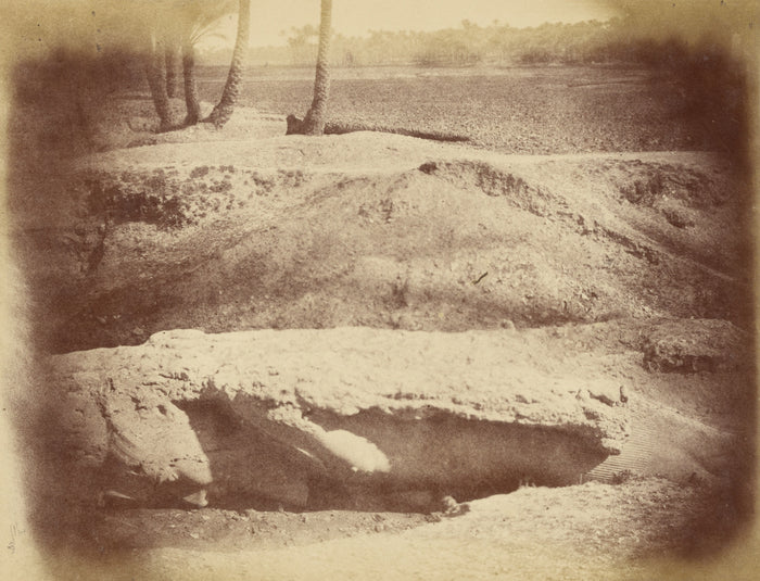
<svg viewBox="0 0 760 581"><path fill-rule="evenodd" d="M55 305L55 351L181 327L742 325L749 313L744 206L708 154L276 137L103 153L63 187L55 229L22 237Z"/></svg>

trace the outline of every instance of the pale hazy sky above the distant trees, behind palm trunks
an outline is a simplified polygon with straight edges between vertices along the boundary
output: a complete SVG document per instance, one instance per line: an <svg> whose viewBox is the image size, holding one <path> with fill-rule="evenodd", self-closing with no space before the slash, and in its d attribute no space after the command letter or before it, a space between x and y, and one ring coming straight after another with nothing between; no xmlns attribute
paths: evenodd
<svg viewBox="0 0 760 581"><path fill-rule="evenodd" d="M457 27L463 20L487 25L494 20L511 26L544 22L604 21L615 15L605 0L334 0L332 25L346 36L368 30L436 30ZM236 17L226 18L229 40ZM291 27L318 25L319 0L255 0L251 2L251 46L283 45Z"/></svg>

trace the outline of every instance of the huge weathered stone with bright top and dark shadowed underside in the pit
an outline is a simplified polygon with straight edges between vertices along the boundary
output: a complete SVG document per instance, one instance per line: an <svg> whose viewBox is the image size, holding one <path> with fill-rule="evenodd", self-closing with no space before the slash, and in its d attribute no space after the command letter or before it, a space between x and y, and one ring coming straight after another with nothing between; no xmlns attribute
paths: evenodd
<svg viewBox="0 0 760 581"><path fill-rule="evenodd" d="M516 330L174 330L50 363L78 409L67 445L104 490L408 507L577 482L620 452L620 383L557 348Z"/></svg>

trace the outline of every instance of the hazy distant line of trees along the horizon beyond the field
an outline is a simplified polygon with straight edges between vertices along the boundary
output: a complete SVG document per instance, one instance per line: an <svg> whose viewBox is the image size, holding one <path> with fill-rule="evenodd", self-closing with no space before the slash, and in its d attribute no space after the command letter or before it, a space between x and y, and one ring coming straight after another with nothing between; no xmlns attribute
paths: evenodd
<svg viewBox="0 0 760 581"><path fill-rule="evenodd" d="M255 39L252 39L255 45ZM251 65L312 65L316 60L317 29L293 28L288 46L253 48ZM463 21L458 28L432 33L373 30L367 37L337 34L331 46L337 66L401 65L468 66L476 64L657 64L681 61L686 47L675 40L654 41L636 33L625 18L575 24L546 23L514 28L494 22L479 26ZM208 64L229 62L229 52L206 53ZM667 64L667 63L663 63Z"/></svg>

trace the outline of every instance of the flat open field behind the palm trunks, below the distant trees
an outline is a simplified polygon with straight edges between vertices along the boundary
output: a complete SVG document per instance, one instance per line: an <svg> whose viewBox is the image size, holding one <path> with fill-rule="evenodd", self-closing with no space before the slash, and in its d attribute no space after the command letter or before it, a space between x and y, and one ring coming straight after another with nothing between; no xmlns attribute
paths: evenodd
<svg viewBox="0 0 760 581"><path fill-rule="evenodd" d="M226 72L207 68L201 79L202 98L214 102ZM313 83L312 70L250 70L241 102L302 116ZM711 116L702 90L623 66L339 68L328 116L459 134L504 153L724 150L736 121L731 111Z"/></svg>

